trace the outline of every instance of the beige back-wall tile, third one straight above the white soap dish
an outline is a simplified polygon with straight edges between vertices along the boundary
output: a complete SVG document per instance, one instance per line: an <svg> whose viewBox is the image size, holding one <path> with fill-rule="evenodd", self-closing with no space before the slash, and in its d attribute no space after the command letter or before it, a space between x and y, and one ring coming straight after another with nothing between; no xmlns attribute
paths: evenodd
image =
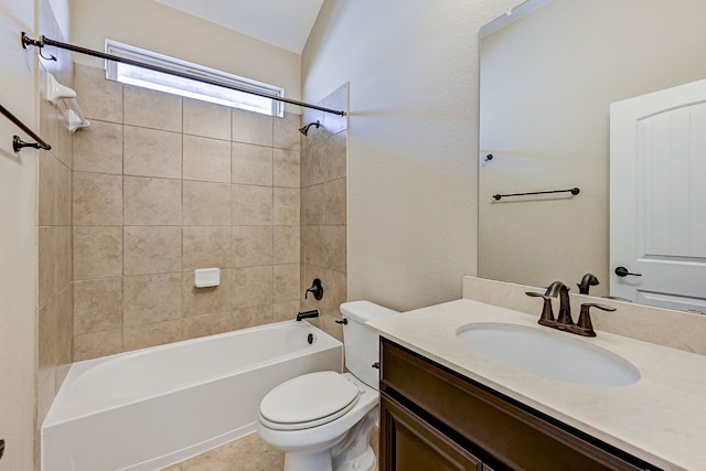
<svg viewBox="0 0 706 471"><path fill-rule="evenodd" d="M231 183L231 142L197 136L183 138L184 180Z"/></svg>

